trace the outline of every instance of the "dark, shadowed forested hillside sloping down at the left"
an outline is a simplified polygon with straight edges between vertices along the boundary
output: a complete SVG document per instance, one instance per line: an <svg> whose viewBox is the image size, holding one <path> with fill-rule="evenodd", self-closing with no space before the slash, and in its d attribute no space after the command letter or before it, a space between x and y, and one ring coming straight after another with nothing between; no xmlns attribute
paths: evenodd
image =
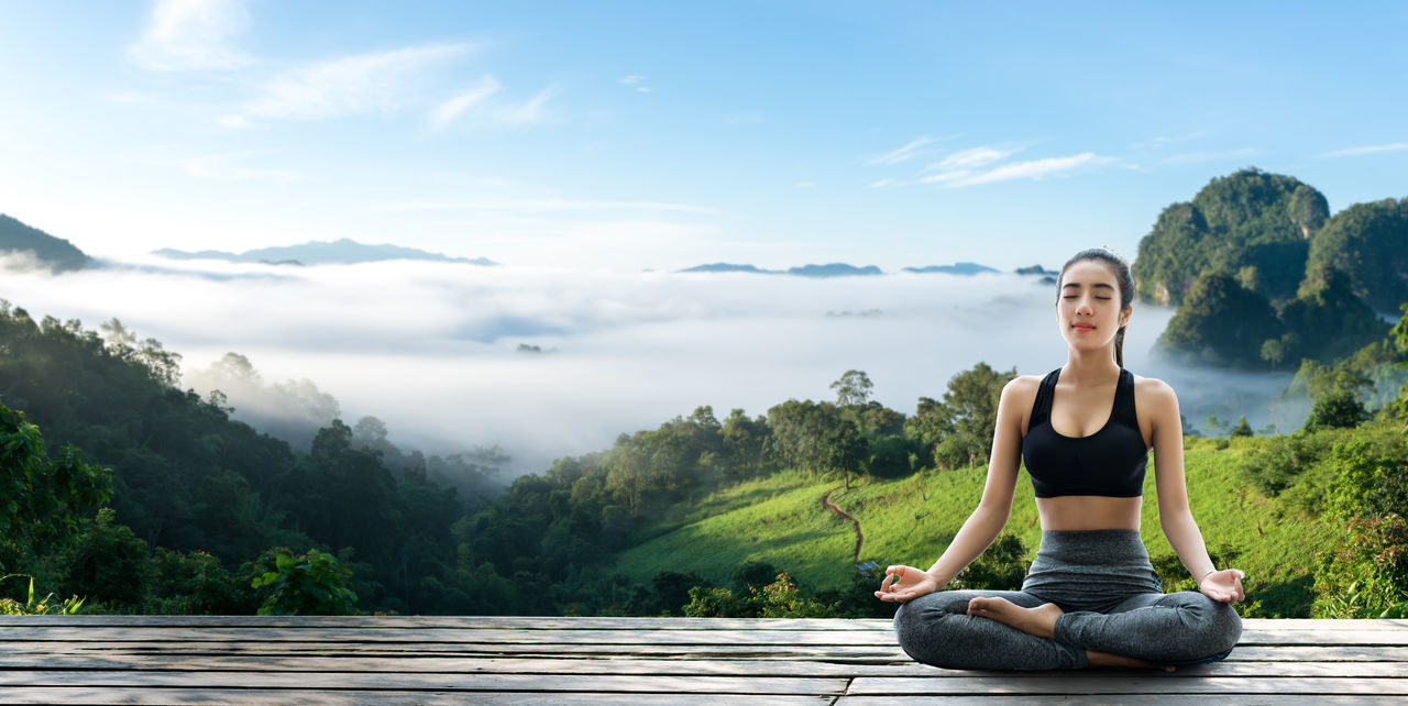
<svg viewBox="0 0 1408 706"><path fill-rule="evenodd" d="M0 300L0 405L23 411L51 447L72 444L113 470L106 523L51 551L0 541L0 572L38 575L44 591L106 610L165 612L177 601L184 610L252 612L237 567L260 572L249 567L275 547L321 548L353 570L365 609L472 610L472 588L448 595L427 581L452 581L452 526L479 502L452 485L496 492L493 468L401 454L384 428L341 421L296 453L231 421L222 395L177 388L180 356L161 342L114 336L117 325L107 332L111 340L77 321L34 321ZM165 564L148 565L158 548L179 556L158 553ZM200 585L187 570L201 571Z"/></svg>

